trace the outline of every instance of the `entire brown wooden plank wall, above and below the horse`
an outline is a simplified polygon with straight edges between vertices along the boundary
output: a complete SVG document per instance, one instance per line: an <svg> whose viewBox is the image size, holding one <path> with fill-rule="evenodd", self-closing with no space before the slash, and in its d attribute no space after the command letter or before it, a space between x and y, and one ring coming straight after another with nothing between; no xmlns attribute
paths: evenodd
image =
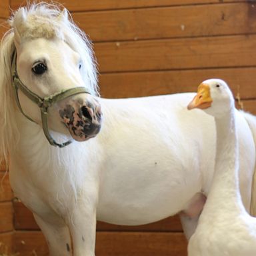
<svg viewBox="0 0 256 256"><path fill-rule="evenodd" d="M219 77L239 106L256 114L254 2L67 0L65 7L94 42L103 97L195 91L204 79ZM11 0L11 8L22 3ZM15 251L47 255L31 213L19 201L14 209ZM96 255L185 256L186 241L177 216L141 227L99 222Z"/></svg>

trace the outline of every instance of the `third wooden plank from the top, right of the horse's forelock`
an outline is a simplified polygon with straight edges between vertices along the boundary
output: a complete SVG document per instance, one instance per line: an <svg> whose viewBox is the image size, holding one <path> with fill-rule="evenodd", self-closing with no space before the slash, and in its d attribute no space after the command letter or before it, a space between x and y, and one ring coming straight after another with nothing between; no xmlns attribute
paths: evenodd
<svg viewBox="0 0 256 256"><path fill-rule="evenodd" d="M96 43L104 72L256 65L256 35Z"/></svg>

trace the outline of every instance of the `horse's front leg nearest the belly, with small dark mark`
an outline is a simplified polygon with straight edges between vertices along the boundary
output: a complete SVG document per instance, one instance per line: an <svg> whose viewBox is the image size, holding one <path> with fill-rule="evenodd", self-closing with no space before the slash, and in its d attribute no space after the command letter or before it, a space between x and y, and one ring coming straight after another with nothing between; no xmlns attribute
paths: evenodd
<svg viewBox="0 0 256 256"><path fill-rule="evenodd" d="M95 256L96 209L92 205L77 205L69 221L73 241L73 256Z"/></svg>

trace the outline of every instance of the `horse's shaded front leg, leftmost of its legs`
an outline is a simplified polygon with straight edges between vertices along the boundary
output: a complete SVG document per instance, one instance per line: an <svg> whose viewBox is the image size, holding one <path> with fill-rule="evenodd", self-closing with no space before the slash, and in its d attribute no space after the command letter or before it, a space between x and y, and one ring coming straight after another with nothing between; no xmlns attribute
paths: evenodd
<svg viewBox="0 0 256 256"><path fill-rule="evenodd" d="M72 245L69 234L69 229L63 221L60 223L49 223L39 217L39 215L33 214L35 221L43 231L45 239L49 247L50 256L71 256Z"/></svg>

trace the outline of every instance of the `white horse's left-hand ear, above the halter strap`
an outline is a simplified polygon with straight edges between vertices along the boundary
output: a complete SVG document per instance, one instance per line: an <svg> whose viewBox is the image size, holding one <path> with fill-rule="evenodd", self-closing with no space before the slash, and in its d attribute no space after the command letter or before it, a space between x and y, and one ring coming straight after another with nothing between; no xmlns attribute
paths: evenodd
<svg viewBox="0 0 256 256"><path fill-rule="evenodd" d="M14 30L14 41L15 45L19 45L21 43L21 35L22 35L22 28L25 25L26 15L25 9L20 8L14 15L13 18L13 30Z"/></svg>

